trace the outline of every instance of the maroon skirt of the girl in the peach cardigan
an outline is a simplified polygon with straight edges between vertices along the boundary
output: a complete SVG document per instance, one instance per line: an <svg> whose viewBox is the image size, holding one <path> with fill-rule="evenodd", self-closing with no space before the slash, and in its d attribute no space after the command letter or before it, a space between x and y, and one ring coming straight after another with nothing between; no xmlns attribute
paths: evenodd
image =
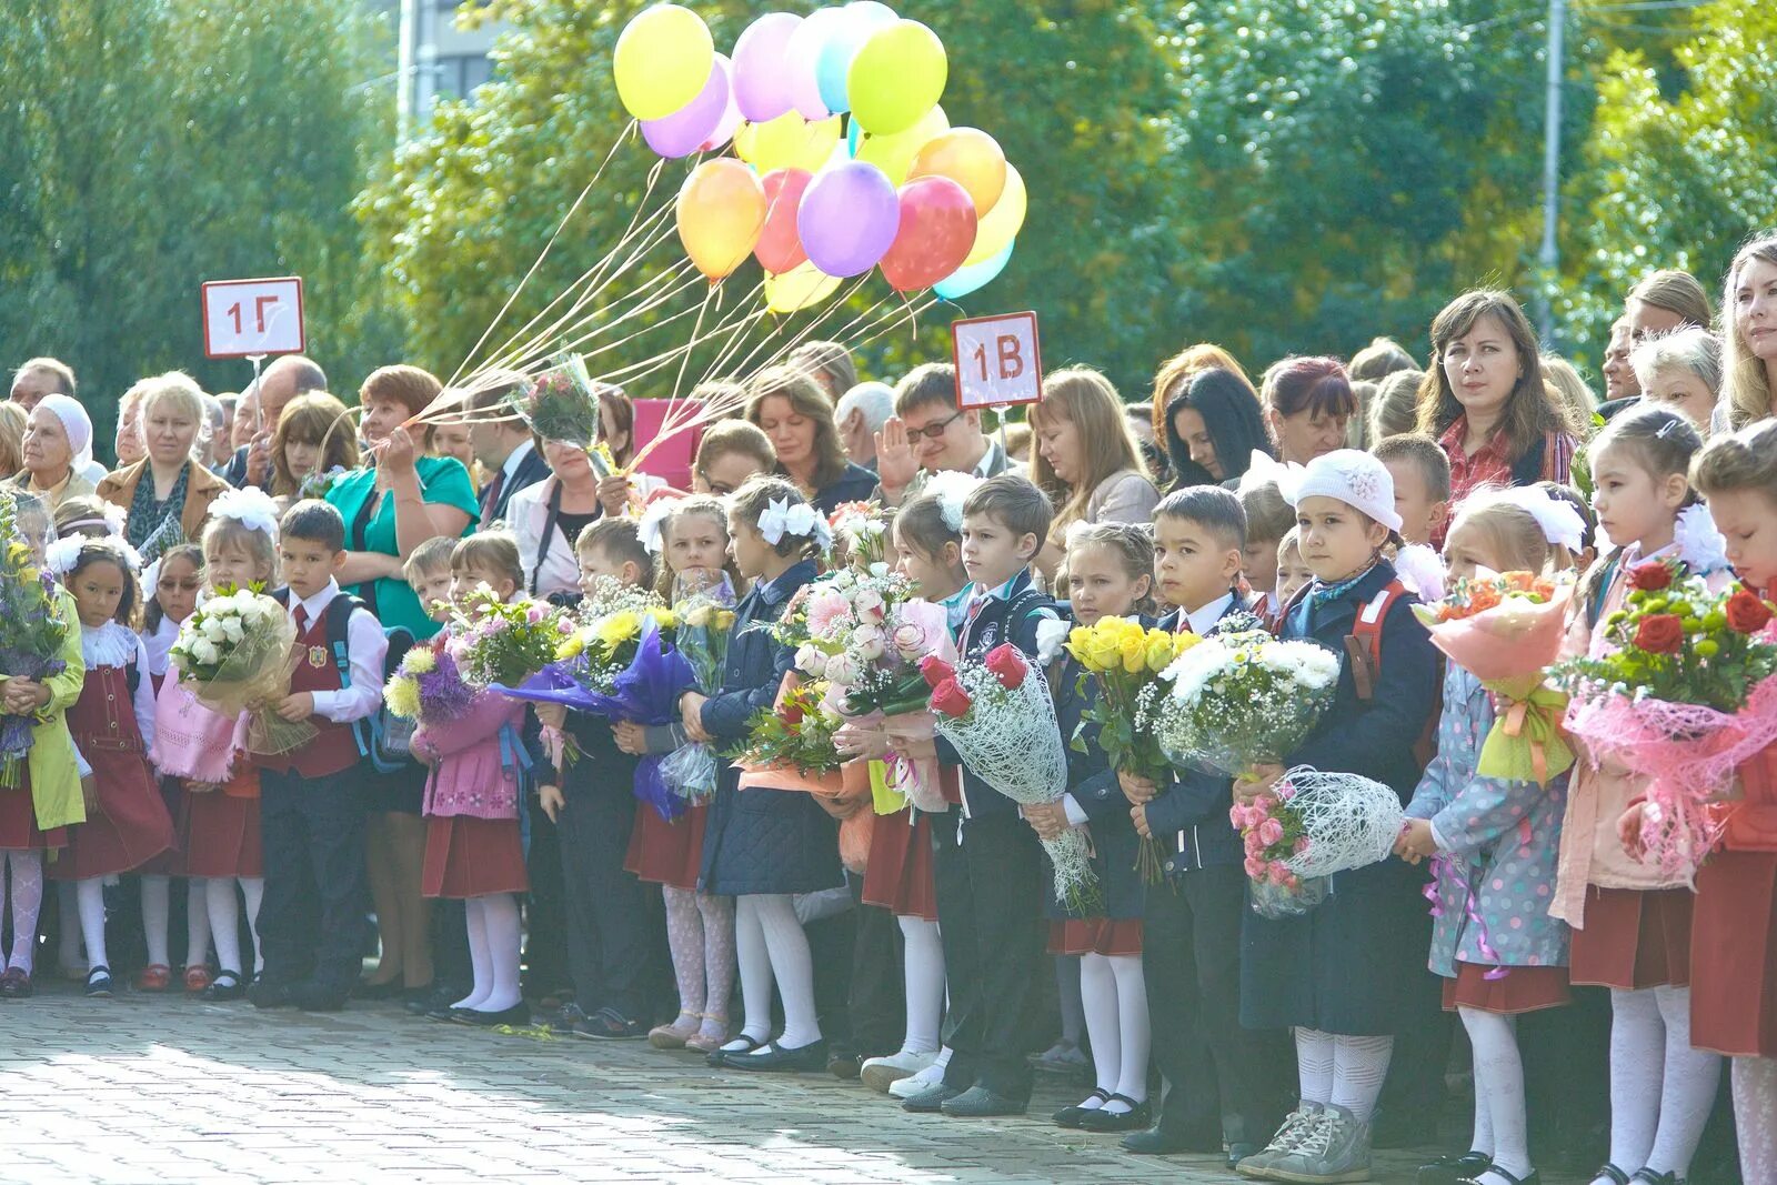
<svg viewBox="0 0 1777 1185"><path fill-rule="evenodd" d="M1688 888L1585 887L1585 929L1573 931L1569 981L1621 991L1690 984Z"/></svg>

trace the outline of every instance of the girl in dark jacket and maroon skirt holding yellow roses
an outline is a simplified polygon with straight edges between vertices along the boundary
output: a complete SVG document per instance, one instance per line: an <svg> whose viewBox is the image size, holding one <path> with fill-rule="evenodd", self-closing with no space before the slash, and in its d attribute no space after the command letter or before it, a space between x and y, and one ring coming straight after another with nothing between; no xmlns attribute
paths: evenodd
<svg viewBox="0 0 1777 1185"><path fill-rule="evenodd" d="M1095 625L1105 616L1146 620L1153 590L1153 542L1134 524L1077 522L1068 531L1068 606L1073 622ZM1066 622L1045 627L1059 647ZM1080 721L1098 684L1080 682L1079 663L1064 650L1048 668L1061 736L1079 736L1086 752L1068 746L1068 792L1057 803L1025 805L1024 817L1040 839L1070 826L1091 828L1091 865L1102 906L1079 913L1045 892L1048 952L1080 959L1080 1007L1093 1046L1093 1093L1052 1117L1064 1128L1134 1132L1153 1117L1148 1105L1148 988L1143 979L1143 885L1130 803L1098 744L1098 730ZM1045 865L1048 862L1045 860ZM1045 872L1052 872L1045 867ZM1050 878L1045 876L1045 883Z"/></svg>

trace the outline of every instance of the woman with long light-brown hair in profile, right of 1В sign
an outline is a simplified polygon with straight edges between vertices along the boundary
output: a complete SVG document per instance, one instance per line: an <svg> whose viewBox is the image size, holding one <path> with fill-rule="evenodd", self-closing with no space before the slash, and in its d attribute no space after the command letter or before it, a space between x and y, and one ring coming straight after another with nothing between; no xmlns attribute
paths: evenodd
<svg viewBox="0 0 1777 1185"><path fill-rule="evenodd" d="M1141 465L1141 451L1123 419L1123 400L1111 380L1086 366L1059 370L1043 380L1043 402L1031 405L1036 457L1031 480L1059 510L1048 540L1036 553L1047 579L1066 558L1075 522L1151 522L1160 490Z"/></svg>

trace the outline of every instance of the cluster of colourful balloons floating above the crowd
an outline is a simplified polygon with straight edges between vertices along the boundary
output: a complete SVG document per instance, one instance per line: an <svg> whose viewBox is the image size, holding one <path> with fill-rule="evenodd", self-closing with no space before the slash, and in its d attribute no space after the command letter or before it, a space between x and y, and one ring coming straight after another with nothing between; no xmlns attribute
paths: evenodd
<svg viewBox="0 0 1777 1185"><path fill-rule="evenodd" d="M624 28L613 69L661 156L732 142L679 190L679 240L711 281L757 258L773 311L876 266L896 291L954 300L1011 259L1024 178L992 135L951 126L944 43L885 4L768 12L732 55L697 12L656 4Z"/></svg>

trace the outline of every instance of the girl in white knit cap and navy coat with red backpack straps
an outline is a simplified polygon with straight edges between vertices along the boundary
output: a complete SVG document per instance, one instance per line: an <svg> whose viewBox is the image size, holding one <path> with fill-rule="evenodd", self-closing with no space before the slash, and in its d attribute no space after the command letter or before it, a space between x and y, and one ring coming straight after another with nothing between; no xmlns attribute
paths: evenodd
<svg viewBox="0 0 1777 1185"><path fill-rule="evenodd" d="M1288 496L1315 581L1285 606L1281 636L1338 654L1340 680L1308 741L1260 766L1258 780L1237 782L1235 796L1251 799L1287 767L1313 766L1374 778L1406 801L1420 780L1414 746L1436 704L1438 654L1383 558L1400 526L1393 481L1368 453L1336 449L1311 460ZM1246 915L1240 1022L1295 1029L1299 1105L1263 1151L1240 1160L1240 1176L1368 1180L1370 1117L1397 1025L1425 977L1422 885L1422 872L1384 860L1336 874L1333 895L1303 917Z"/></svg>

